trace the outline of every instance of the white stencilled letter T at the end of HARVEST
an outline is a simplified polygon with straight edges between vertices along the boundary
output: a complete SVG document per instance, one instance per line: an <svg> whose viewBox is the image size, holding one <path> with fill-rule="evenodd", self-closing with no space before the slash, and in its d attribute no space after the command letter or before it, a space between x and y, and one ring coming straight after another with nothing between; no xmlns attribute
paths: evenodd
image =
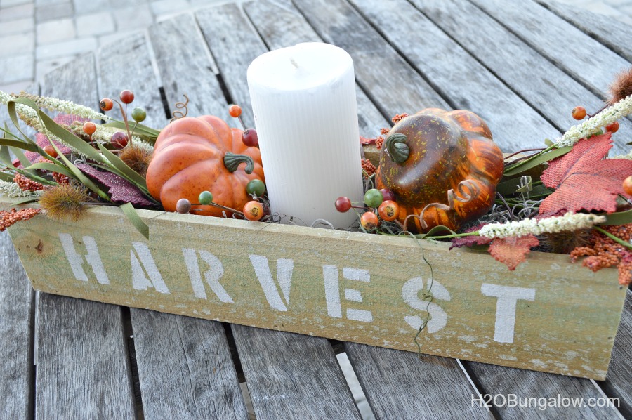
<svg viewBox="0 0 632 420"><path fill-rule="evenodd" d="M534 301L535 289L483 283L480 287L480 291L485 296L498 298L498 301L496 301L494 341L498 341L499 343L513 343L516 303L520 299L523 301Z"/></svg>

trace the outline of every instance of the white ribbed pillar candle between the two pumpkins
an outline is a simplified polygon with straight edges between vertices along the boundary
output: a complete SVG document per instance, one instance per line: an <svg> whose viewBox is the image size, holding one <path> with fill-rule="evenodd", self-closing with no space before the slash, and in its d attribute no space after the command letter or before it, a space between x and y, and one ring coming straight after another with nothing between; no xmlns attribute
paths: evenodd
<svg viewBox="0 0 632 420"><path fill-rule="evenodd" d="M272 212L348 228L355 211L334 202L362 201L351 56L321 43L270 51L248 67L248 87Z"/></svg>

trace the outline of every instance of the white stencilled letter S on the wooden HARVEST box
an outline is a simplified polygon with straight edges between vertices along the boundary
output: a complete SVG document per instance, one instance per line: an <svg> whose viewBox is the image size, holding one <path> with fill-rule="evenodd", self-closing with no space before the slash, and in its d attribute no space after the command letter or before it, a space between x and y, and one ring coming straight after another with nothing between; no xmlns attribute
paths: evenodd
<svg viewBox="0 0 632 420"><path fill-rule="evenodd" d="M449 291L447 291L443 284L436 280L432 282L432 285L430 285L430 283L430 280L428 280L426 289L432 293L434 299L440 301L449 301L451 299ZM430 317L428 318L426 329L429 333L434 333L445 327L447 324L447 314L437 303L428 303L427 300L419 298L419 292L422 290L423 279L421 277L414 277L404 283L402 287L402 298L411 308L428 311ZM404 321L414 329L419 329L424 322L418 315L406 315L404 316Z"/></svg>

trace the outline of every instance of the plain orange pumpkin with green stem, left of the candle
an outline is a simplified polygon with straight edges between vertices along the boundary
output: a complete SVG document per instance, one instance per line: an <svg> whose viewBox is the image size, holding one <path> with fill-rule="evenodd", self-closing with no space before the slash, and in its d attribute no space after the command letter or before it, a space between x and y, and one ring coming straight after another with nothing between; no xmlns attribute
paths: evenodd
<svg viewBox="0 0 632 420"><path fill-rule="evenodd" d="M202 191L210 191L216 204L241 210L252 199L246 184L253 179L265 182L259 149L244 145L241 130L209 115L176 119L166 126L147 169L147 189L167 211L176 211L180 198L197 203ZM223 216L215 206L194 209L202 211L193 214Z"/></svg>

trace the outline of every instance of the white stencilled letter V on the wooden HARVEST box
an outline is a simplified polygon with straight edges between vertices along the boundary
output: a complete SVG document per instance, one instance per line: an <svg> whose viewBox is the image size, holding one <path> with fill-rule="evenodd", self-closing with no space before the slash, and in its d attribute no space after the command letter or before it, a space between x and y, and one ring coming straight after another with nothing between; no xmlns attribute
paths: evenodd
<svg viewBox="0 0 632 420"><path fill-rule="evenodd" d="M251 255L250 262L255 270L257 280L259 280L259 284L261 284L261 289L263 289L263 294L265 294L265 298L268 300L270 307L283 312L286 311L286 304L289 305L294 261L286 258L279 258L277 260L277 282L281 287L285 303L283 303L281 295L279 294L275 280L272 279L272 272L270 271L268 258L262 255Z"/></svg>

